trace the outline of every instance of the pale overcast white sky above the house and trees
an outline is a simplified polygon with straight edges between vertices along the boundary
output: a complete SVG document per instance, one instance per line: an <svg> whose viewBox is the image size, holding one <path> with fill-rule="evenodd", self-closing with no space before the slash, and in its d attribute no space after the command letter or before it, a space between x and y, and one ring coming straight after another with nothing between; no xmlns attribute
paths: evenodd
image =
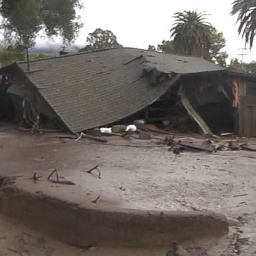
<svg viewBox="0 0 256 256"><path fill-rule="evenodd" d="M109 29L117 41L125 47L147 49L148 45L157 46L168 40L173 23L173 14L177 11L199 11L209 14L209 22L224 33L227 40L226 50L230 58L241 59L241 48L245 43L237 34L236 17L232 17L233 0L81 0L84 9L79 11L84 23L76 42L85 45L88 33L97 28ZM256 61L255 47L245 50L243 61Z"/></svg>

